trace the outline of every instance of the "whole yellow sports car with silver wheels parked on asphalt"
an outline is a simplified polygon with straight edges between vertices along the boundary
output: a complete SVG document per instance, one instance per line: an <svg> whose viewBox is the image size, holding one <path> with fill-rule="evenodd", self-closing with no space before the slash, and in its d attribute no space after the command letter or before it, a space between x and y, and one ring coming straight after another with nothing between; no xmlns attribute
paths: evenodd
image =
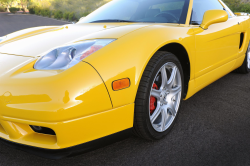
<svg viewBox="0 0 250 166"><path fill-rule="evenodd" d="M0 38L0 137L61 158L173 127L182 100L250 71L249 16L221 0L113 0Z"/></svg>

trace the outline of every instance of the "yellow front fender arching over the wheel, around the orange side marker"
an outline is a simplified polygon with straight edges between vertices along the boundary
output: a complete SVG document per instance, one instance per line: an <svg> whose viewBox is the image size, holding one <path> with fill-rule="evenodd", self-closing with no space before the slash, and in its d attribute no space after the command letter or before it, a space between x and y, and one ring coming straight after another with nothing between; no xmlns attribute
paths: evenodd
<svg viewBox="0 0 250 166"><path fill-rule="evenodd" d="M84 59L102 76L114 108L134 103L142 74L151 57L169 43L179 43L187 51L194 77L194 35L190 27L154 25L131 32ZM129 78L129 88L113 91L112 82Z"/></svg>

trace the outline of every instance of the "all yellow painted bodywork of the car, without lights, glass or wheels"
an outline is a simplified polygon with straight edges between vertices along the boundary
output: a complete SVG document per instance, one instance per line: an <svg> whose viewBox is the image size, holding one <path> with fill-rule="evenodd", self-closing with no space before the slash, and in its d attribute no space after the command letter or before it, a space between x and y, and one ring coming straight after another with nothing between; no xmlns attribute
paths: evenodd
<svg viewBox="0 0 250 166"><path fill-rule="evenodd" d="M142 74L163 46L183 46L190 61L186 99L242 65L249 43L248 16L227 20L208 12L202 27L167 23L94 23L38 27L8 35L0 46L0 137L61 149L133 127L134 102ZM218 23L220 22L220 23ZM239 49L240 34L244 33ZM39 56L58 46L90 39L117 39L74 67L35 70ZM114 91L115 80L129 88ZM56 136L35 133L48 127Z"/></svg>

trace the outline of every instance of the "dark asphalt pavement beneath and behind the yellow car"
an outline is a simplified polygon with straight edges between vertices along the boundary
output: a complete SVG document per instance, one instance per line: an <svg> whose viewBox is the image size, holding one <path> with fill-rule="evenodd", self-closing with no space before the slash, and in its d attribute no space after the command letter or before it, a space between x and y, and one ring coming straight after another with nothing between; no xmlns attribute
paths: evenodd
<svg viewBox="0 0 250 166"><path fill-rule="evenodd" d="M0 14L0 36L66 22ZM250 74L230 73L183 102L173 130L162 140L135 136L75 157L43 159L0 142L0 165L250 165Z"/></svg>

